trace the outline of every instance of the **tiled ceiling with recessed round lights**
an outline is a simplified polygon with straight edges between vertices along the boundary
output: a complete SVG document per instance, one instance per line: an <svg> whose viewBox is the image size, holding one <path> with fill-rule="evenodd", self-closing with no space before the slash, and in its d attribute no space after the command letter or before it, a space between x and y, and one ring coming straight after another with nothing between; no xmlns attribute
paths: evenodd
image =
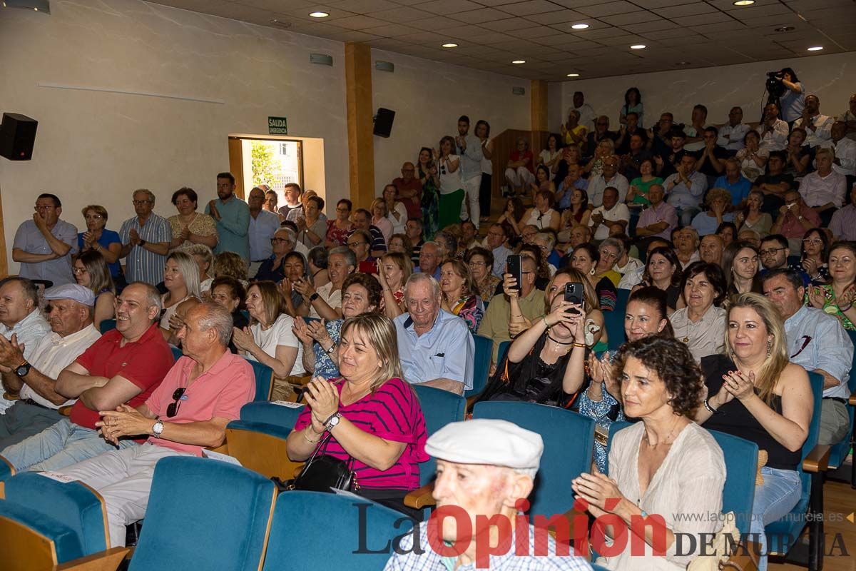
<svg viewBox="0 0 856 571"><path fill-rule="evenodd" d="M734 2L156 0L175 8L538 80L856 51L854 0ZM580 29L583 24L588 27ZM808 51L817 47L822 50Z"/></svg>

